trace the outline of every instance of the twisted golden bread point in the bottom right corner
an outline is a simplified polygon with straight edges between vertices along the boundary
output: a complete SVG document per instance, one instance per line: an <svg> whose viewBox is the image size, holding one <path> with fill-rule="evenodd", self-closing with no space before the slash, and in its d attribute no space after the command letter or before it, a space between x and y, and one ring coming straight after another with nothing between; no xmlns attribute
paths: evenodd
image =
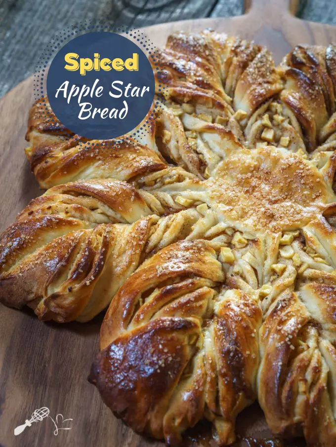
<svg viewBox="0 0 336 447"><path fill-rule="evenodd" d="M276 435L303 434L309 446L336 443L335 297L336 285L312 284L298 294L284 292L260 331L258 400L267 423ZM308 311L319 303L327 307L323 320L332 320L331 340Z"/></svg>

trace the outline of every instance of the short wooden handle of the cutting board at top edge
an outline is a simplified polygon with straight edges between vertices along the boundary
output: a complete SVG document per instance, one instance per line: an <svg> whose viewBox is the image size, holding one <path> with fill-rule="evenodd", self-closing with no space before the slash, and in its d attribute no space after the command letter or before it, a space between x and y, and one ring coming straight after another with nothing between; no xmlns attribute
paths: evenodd
<svg viewBox="0 0 336 447"><path fill-rule="evenodd" d="M299 6L299 0L245 0L244 8L246 14L258 15L259 18L266 14L277 16L279 14L295 15Z"/></svg>

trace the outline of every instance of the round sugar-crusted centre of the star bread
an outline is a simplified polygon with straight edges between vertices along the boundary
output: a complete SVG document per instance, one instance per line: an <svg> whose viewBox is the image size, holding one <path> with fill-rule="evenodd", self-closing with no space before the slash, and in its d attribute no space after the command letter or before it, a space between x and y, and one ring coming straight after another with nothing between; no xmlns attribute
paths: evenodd
<svg viewBox="0 0 336 447"><path fill-rule="evenodd" d="M232 151L207 183L208 203L223 220L271 231L302 227L332 193L315 166L273 147Z"/></svg>

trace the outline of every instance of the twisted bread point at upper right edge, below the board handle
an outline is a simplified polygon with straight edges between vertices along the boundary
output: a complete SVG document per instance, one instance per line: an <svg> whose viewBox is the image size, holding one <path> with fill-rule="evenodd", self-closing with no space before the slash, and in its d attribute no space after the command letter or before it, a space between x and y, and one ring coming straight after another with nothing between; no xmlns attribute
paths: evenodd
<svg viewBox="0 0 336 447"><path fill-rule="evenodd" d="M281 92L261 105L245 128L250 147L265 144L266 129L274 145L302 155L335 150L335 48L298 45L285 56L277 68Z"/></svg>

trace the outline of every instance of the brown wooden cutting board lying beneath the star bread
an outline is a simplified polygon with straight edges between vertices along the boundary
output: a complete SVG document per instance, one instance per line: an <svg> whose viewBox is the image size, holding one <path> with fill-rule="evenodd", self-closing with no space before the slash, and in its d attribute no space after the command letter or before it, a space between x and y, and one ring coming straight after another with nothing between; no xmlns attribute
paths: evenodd
<svg viewBox="0 0 336 447"><path fill-rule="evenodd" d="M266 45L277 63L296 44L336 42L336 27L299 20L291 14L296 7L297 1L246 1L247 13L243 16L166 23L144 30L156 45L163 46L173 31L212 28ZM28 111L33 102L32 85L31 77L0 100L1 231L30 199L42 192L23 151ZM134 434L118 421L102 404L95 387L87 382L98 351L101 322L102 315L84 325L42 323L30 310L0 305L0 447L163 447L162 443ZM57 413L72 418L71 430L59 431L55 436L55 427L47 418L14 437L14 428L44 406L53 418ZM239 415L237 432L242 438L272 438L257 404ZM208 445L207 436L196 436L193 442L194 435L195 432L186 444ZM258 444L241 440L238 445ZM278 446L276 442L264 445ZM289 445L285 443L286 447ZM291 444L303 445L300 441Z"/></svg>

